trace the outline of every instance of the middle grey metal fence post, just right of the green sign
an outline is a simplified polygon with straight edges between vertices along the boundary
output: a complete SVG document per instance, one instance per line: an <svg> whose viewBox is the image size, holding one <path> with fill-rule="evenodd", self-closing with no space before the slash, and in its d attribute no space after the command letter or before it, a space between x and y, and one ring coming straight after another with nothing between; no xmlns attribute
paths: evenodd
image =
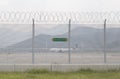
<svg viewBox="0 0 120 79"><path fill-rule="evenodd" d="M68 62L71 63L71 19L69 19L69 27L68 27Z"/></svg>

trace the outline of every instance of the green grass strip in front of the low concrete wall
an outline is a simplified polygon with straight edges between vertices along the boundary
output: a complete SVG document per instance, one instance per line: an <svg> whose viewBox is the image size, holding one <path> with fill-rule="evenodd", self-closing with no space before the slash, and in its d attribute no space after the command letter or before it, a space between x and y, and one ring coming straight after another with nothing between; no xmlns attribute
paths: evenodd
<svg viewBox="0 0 120 79"><path fill-rule="evenodd" d="M30 70L0 72L0 79L120 79L120 71L49 72L47 70Z"/></svg>

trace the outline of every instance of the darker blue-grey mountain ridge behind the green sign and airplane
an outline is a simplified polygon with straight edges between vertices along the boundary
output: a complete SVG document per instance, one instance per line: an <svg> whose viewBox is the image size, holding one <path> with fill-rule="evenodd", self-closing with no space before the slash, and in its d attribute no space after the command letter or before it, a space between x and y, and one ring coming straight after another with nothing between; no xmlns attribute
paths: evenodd
<svg viewBox="0 0 120 79"><path fill-rule="evenodd" d="M101 28L76 27L71 30L71 47L83 50L103 50L104 33ZM119 50L120 48L120 28L107 28L106 47L107 50ZM68 37L68 33L61 35L39 34L35 37L35 48L64 48L68 47L68 42L53 42L52 38ZM31 48L32 39L21 41L9 46L9 48Z"/></svg>

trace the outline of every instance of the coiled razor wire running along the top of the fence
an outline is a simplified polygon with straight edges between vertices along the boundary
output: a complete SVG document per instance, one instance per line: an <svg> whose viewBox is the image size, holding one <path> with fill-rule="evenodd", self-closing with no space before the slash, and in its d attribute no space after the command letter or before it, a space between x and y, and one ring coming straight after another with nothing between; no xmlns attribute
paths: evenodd
<svg viewBox="0 0 120 79"><path fill-rule="evenodd" d="M29 24L33 18L38 24L66 24L69 19L73 24L103 24L104 19L119 24L120 12L0 12L0 23Z"/></svg>

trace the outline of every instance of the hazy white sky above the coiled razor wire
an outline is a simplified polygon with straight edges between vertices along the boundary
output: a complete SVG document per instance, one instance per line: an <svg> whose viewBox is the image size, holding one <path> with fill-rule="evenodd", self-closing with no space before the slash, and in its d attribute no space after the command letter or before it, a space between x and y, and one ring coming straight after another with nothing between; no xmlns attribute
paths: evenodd
<svg viewBox="0 0 120 79"><path fill-rule="evenodd" d="M120 0L0 0L1 11L119 11Z"/></svg>

